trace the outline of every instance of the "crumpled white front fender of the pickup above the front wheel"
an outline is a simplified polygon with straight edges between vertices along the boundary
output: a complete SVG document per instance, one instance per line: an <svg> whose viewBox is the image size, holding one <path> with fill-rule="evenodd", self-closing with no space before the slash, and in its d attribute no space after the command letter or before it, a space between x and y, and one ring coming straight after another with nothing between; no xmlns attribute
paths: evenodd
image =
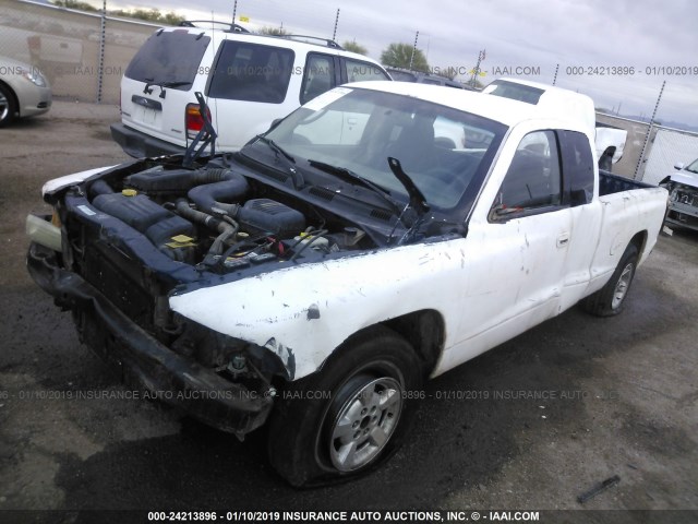
<svg viewBox="0 0 698 524"><path fill-rule="evenodd" d="M456 277L465 267L462 242L413 245L286 267L174 295L170 308L266 347L300 379L366 326L424 309L457 314L453 305L462 290L454 283L462 282Z"/></svg>

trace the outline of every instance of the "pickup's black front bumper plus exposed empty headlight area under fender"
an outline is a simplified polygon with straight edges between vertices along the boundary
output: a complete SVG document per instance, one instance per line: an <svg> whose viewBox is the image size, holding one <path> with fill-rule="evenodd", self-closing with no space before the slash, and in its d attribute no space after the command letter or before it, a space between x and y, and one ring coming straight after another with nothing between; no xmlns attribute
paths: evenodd
<svg viewBox="0 0 698 524"><path fill-rule="evenodd" d="M56 303L71 310L81 342L122 380L151 397L242 438L272 408L275 377L288 377L274 354L176 318L171 333L141 327L82 276L60 267L60 254L33 242L29 273Z"/></svg>

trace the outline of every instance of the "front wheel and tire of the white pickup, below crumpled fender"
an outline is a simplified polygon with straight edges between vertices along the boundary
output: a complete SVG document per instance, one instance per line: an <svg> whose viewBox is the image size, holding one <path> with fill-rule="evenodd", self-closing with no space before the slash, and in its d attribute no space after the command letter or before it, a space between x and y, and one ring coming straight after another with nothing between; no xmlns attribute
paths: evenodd
<svg viewBox="0 0 698 524"><path fill-rule="evenodd" d="M419 396L408 393L421 384L421 364L397 333L374 326L350 337L321 371L280 390L268 428L272 465L296 487L373 469L401 444Z"/></svg>

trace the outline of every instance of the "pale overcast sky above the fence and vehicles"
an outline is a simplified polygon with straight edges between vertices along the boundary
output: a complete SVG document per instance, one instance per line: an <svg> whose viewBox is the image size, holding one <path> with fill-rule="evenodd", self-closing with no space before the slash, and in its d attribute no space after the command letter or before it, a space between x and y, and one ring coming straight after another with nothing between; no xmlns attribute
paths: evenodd
<svg viewBox="0 0 698 524"><path fill-rule="evenodd" d="M155 8L230 21L233 0L110 0L108 9ZM412 45L432 68L469 80L480 50L486 84L513 76L579 91L598 108L698 128L698 2L695 0L238 0L236 21L255 29L356 40L380 60L390 43ZM419 35L417 35L419 32ZM557 74L556 73L557 70Z"/></svg>

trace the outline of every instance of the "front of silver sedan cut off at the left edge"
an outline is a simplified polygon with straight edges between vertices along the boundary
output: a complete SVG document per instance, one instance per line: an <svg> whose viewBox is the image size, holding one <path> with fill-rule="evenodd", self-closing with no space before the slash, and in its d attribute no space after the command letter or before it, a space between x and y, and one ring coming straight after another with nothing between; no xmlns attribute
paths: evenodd
<svg viewBox="0 0 698 524"><path fill-rule="evenodd" d="M51 87L38 68L0 57L0 128L50 107Z"/></svg>

